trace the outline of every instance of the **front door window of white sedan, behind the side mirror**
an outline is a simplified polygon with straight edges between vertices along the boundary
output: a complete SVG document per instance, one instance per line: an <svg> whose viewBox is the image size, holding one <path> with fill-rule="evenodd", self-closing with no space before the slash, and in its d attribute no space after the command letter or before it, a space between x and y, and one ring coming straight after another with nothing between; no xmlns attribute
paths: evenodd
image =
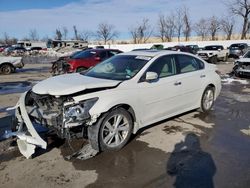
<svg viewBox="0 0 250 188"><path fill-rule="evenodd" d="M156 72L159 78L175 75L177 71L174 56L167 55L159 57L153 62L147 72Z"/></svg>

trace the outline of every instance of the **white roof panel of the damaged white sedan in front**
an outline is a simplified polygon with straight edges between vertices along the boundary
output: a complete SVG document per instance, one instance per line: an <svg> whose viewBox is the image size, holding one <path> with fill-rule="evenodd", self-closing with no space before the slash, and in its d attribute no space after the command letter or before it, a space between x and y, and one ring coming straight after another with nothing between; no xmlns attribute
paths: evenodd
<svg viewBox="0 0 250 188"><path fill-rule="evenodd" d="M188 54L188 53L170 51L170 50L140 50L140 51L125 52L125 53L118 54L118 55L135 55L135 56L156 57L156 56L170 55L170 54Z"/></svg>

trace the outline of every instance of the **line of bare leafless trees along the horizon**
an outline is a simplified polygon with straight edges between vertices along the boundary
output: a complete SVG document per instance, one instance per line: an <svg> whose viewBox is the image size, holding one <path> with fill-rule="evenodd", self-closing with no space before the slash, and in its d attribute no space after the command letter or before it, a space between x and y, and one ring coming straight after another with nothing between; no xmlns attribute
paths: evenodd
<svg viewBox="0 0 250 188"><path fill-rule="evenodd" d="M226 36L227 40L232 38L236 29L236 19L242 20L241 39L246 39L250 32L250 0L230 0L225 3L228 9L227 15L219 18L211 16L200 18L197 22L192 23L189 9L186 6L178 8L168 14L159 14L156 26L153 27L148 18L143 18L135 26L128 28L128 33L135 44L146 43L151 37L156 37L161 42L171 42L174 37L181 40L184 37L188 41L191 36L198 36L201 40L217 40L220 33ZM74 37L71 39L89 41L96 39L103 41L104 44L119 37L119 32L115 26L108 22L99 23L96 31L80 31L75 25L72 27ZM54 33L55 40L69 39L69 29L67 27L57 28ZM39 38L36 29L31 29L28 37L22 40L44 40L48 37ZM9 37L7 33L3 34L0 43L14 43L17 39Z"/></svg>

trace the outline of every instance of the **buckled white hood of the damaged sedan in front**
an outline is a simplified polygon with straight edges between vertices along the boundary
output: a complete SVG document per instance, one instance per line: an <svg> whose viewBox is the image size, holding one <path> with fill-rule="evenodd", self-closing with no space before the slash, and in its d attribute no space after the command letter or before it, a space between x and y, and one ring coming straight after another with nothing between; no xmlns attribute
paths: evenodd
<svg viewBox="0 0 250 188"><path fill-rule="evenodd" d="M86 89L105 88L117 86L121 81L99 79L83 76L79 73L64 74L43 80L36 84L32 91L44 95L70 95Z"/></svg>

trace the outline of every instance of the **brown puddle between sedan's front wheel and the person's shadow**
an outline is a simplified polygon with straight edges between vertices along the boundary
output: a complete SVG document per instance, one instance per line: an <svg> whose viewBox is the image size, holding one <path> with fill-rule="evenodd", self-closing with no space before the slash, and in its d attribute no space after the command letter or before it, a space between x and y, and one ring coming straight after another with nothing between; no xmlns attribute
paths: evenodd
<svg viewBox="0 0 250 188"><path fill-rule="evenodd" d="M133 140L120 151L103 152L85 161L74 159L72 164L76 170L95 170L98 174L97 181L87 187L151 187L157 184L162 187L166 183L167 160L167 153Z"/></svg>

